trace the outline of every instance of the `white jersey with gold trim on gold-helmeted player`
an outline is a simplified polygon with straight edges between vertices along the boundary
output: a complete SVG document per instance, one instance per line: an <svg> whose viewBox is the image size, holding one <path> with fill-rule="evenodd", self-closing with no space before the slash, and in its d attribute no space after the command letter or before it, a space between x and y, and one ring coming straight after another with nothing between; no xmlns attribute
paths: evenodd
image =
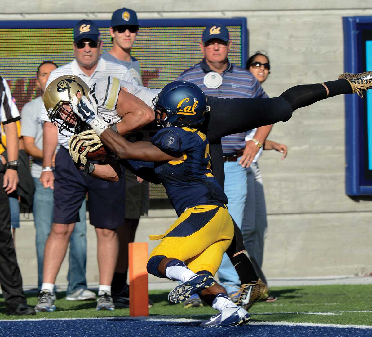
<svg viewBox="0 0 372 337"><path fill-rule="evenodd" d="M98 115L102 117L108 126L118 123L122 119L116 112L121 87L128 90L132 95L142 99L151 108L154 108L153 98L161 91L161 89L137 86L113 76L100 78L90 87L89 99L97 103Z"/></svg>

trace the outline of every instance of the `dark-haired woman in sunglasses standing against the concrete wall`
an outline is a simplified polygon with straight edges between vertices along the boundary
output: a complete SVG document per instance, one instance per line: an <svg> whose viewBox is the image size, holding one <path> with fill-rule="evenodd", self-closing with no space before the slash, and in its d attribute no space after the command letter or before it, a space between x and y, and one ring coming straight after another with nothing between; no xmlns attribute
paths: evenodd
<svg viewBox="0 0 372 337"><path fill-rule="evenodd" d="M257 51L248 58L246 69L262 84L270 74L270 61L267 55ZM254 139L257 129L247 131L246 142ZM287 155L287 147L284 144L278 144L271 140L265 140L254 157L247 170L247 201L244 209L242 232L244 245L251 258L257 273L263 282L266 277L262 272L264 238L267 232L266 204L263 190L262 175L257 160L262 155L262 149L272 150L283 153L282 159ZM264 301L275 301L276 297L269 295Z"/></svg>

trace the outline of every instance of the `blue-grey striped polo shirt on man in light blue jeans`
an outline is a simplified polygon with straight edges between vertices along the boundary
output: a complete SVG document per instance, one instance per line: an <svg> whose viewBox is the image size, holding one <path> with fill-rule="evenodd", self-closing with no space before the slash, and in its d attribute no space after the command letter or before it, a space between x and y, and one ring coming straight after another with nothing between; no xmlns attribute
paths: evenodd
<svg viewBox="0 0 372 337"><path fill-rule="evenodd" d="M221 74L222 84L216 89L207 88L204 85L204 76L210 71L212 70L204 58L200 63L180 74L177 80L193 82L206 95L219 98L268 98L256 77L248 70L230 63L229 60L227 62L227 69ZM246 147L246 134L251 134L251 130L248 130L247 133L237 133L223 137L222 150L224 154L230 155L244 149ZM261 152L262 148L259 153Z"/></svg>

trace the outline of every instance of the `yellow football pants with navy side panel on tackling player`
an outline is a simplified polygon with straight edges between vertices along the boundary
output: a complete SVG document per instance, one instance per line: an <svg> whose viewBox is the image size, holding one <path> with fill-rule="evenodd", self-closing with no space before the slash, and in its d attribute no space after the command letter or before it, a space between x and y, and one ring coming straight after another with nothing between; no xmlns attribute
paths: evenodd
<svg viewBox="0 0 372 337"><path fill-rule="evenodd" d="M195 206L183 212L164 235L150 235L151 240L161 238L150 258L176 258L185 261L194 273L208 270L214 275L233 236L234 225L226 208Z"/></svg>

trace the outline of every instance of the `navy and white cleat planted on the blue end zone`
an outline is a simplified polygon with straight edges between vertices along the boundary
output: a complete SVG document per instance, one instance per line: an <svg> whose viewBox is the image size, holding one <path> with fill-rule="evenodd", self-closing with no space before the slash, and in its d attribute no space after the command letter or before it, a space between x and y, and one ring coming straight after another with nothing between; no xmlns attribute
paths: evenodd
<svg viewBox="0 0 372 337"><path fill-rule="evenodd" d="M249 323L249 314L241 306L231 306L221 310L200 324L201 327L236 327Z"/></svg>

